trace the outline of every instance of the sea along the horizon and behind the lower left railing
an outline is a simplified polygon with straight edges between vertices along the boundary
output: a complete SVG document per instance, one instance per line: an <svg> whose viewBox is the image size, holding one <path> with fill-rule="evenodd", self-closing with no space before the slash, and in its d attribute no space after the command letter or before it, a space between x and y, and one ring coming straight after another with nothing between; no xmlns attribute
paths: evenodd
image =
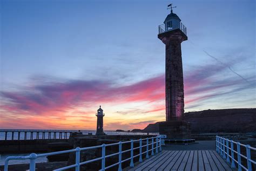
<svg viewBox="0 0 256 171"><path fill-rule="evenodd" d="M43 133L45 132L45 138L48 138L48 132L82 132L83 134L87 135L87 134L92 134L95 135L96 131L95 130L59 130L59 129L0 129L0 140L4 140L5 139L5 131L8 132L7 134L7 140L11 140L12 139L12 134L11 132L14 132L14 140L18 140L18 131L21 131L20 134L20 139L23 140L24 139L24 132L28 132L26 134L26 138L30 139L30 132L33 132L33 139L36 139L36 132L40 132L39 133L39 139L42 139ZM143 132L116 132L116 131L104 131L105 134L107 135L146 135L147 133L143 133ZM157 134L157 133L149 133L150 135L152 134ZM62 135L64 138L64 134ZM56 134L56 138L59 138L59 134ZM69 133L68 133L68 138L69 138ZM53 133L51 133L51 139L53 139ZM12 154L1 154L0 152L0 166L4 165L4 161L8 156L26 156L29 155L30 153L23 153L23 154L16 154L16 153L12 153ZM37 153L39 154L39 153ZM26 164L29 163L30 160L10 160L9 161L9 165L18 165L18 164ZM42 163L42 162L48 162L48 159L46 157L42 157L42 158L38 158L36 160L36 163Z"/></svg>

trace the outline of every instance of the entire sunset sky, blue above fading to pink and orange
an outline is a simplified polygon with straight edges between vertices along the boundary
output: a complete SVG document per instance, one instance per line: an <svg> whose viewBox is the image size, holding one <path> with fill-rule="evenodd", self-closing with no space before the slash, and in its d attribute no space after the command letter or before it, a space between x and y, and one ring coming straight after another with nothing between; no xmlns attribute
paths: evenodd
<svg viewBox="0 0 256 171"><path fill-rule="evenodd" d="M256 107L255 1L171 1L185 112ZM168 0L2 0L0 128L144 128L165 120Z"/></svg>

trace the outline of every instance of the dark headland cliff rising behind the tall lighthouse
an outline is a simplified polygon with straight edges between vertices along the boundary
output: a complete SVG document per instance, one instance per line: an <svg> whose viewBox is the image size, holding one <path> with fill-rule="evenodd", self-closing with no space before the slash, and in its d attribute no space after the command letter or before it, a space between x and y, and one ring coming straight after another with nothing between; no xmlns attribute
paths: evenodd
<svg viewBox="0 0 256 171"><path fill-rule="evenodd" d="M234 108L187 112L184 120L191 123L192 133L256 132L256 108ZM159 122L150 124L143 132L159 132Z"/></svg>

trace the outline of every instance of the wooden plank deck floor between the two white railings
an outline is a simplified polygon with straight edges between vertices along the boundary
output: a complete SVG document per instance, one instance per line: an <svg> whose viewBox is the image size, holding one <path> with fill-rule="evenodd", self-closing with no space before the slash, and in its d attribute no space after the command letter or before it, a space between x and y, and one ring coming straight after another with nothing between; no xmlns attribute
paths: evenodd
<svg viewBox="0 0 256 171"><path fill-rule="evenodd" d="M129 170L232 170L215 151L163 151Z"/></svg>

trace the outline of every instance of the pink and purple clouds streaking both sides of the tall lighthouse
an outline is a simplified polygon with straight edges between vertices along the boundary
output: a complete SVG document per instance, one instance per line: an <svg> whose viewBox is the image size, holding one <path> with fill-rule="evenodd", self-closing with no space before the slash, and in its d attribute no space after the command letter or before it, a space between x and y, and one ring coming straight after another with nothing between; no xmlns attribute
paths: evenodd
<svg viewBox="0 0 256 171"><path fill-rule="evenodd" d="M187 73L184 77L185 87L185 106L198 106L198 102L215 98L225 93L235 92L251 88L245 86L242 79L230 78L219 80L218 74L226 70L226 66L206 65ZM253 79L253 78L248 78ZM234 85L237 87L234 88ZM233 89L228 90L228 88ZM223 90L225 90L223 92ZM220 92L220 90L222 90ZM210 94L209 94L210 93ZM165 100L165 76L161 74L158 77L140 81L128 86L114 86L110 81L86 81L86 80L68 80L64 82L51 82L36 84L35 86L27 87L26 90L18 92L1 92L1 97L4 101L1 104L2 111L9 114L25 115L25 116L55 116L60 120L65 120L65 113L72 112L74 117L79 117L83 111L78 111L80 106L89 107L95 106L102 102L112 102L114 104L125 104L127 102L156 102L162 101L163 105L152 105L152 108L144 113L153 113L164 111ZM94 111L87 111L94 113ZM91 118L86 118L90 120ZM10 119L11 120L11 119ZM16 126L22 125L15 120L8 119L0 121L1 125L8 125L12 122ZM43 121L29 119L26 120L33 126L32 122L43 123ZM47 125L44 122L43 125ZM138 125L123 125L131 128ZM146 125L146 124L145 124ZM54 124L48 125L54 127ZM56 126L57 127L57 126ZM66 125L62 125L66 127Z"/></svg>

